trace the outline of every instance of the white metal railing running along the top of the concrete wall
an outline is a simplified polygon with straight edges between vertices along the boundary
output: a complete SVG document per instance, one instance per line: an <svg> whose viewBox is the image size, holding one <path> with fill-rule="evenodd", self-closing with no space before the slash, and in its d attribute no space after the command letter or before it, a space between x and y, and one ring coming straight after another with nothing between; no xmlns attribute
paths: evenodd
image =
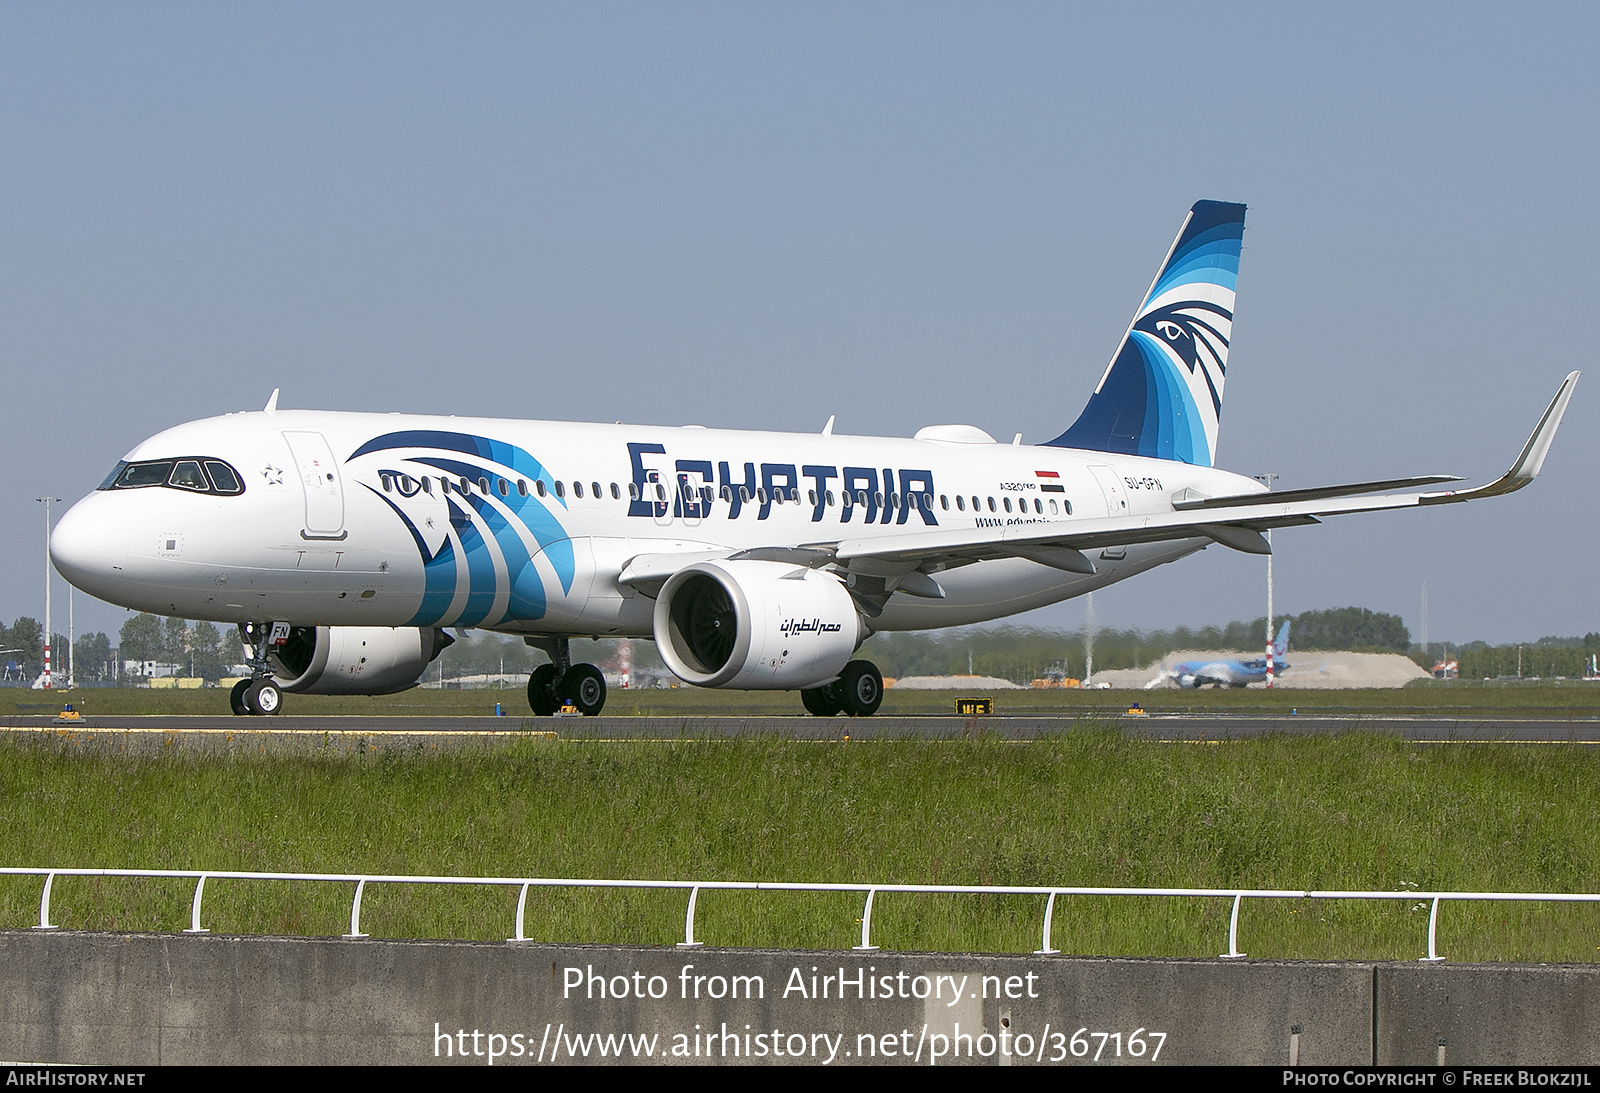
<svg viewBox="0 0 1600 1093"><path fill-rule="evenodd" d="M856 952L875 952L872 944L872 903L882 891L891 893L923 893L923 895L989 895L989 896L1045 896L1045 911L1040 928L1038 955L1061 952L1050 944L1050 930L1056 914L1056 896L1147 896L1147 898L1211 898L1232 899L1234 907L1227 922L1227 952L1224 960L1237 960L1245 954L1238 951L1238 909L1245 899L1408 899L1414 903L1430 901L1427 915L1427 955L1422 960L1443 960L1438 955L1438 904L1445 901L1470 903L1600 903L1600 893L1563 893L1563 891L1288 891L1275 888L1077 888L1077 887L1003 887L1003 885L872 885L872 883L806 883L806 882L770 882L770 880L581 880L568 877L416 877L416 875L379 875L379 874L338 874L338 872L229 872L229 871L195 871L195 869L30 869L0 867L0 875L43 877L45 888L38 898L38 925L34 930L56 930L50 922L50 890L56 877L182 877L195 882L194 898L189 904L189 928L184 933L210 933L200 925L200 904L205 898L206 880L312 880L325 883L354 883L355 893L350 899L350 931L344 938L366 938L362 933L362 895L368 883L382 885L488 885L499 888L518 888L517 919L514 936L507 941L530 941L523 933L523 911L528 904L530 888L674 888L688 891L688 907L683 915L683 941L678 947L698 947L702 943L694 938L694 904L701 890L709 891L856 891L866 893L866 906L861 912L861 944Z"/></svg>

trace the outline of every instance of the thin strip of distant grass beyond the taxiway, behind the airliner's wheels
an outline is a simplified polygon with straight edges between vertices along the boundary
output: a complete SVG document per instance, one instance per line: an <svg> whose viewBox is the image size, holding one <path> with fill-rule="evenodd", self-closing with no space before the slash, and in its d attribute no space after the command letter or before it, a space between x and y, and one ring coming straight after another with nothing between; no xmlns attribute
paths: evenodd
<svg viewBox="0 0 1600 1093"><path fill-rule="evenodd" d="M957 695L968 691L902 691L888 688L883 715L950 714ZM1000 715L1078 717L1085 714L1120 714L1130 703L1152 712L1288 712L1304 714L1421 714L1421 715L1600 715L1600 683L1570 680L1565 683L1432 683L1400 690L1157 690L1157 691L1067 691L1019 690L984 691L992 695ZM227 714L222 690L152 691L147 688L104 688L78 691L5 690L0 691L0 717L43 715L61 703L75 703L88 715L182 715ZM382 696L285 695L285 714L307 715L462 715L488 717L501 703L512 717L528 712L522 688L506 690L411 690ZM674 690L613 690L606 696L606 715L802 715L800 696L794 691L707 691L694 687Z"/></svg>

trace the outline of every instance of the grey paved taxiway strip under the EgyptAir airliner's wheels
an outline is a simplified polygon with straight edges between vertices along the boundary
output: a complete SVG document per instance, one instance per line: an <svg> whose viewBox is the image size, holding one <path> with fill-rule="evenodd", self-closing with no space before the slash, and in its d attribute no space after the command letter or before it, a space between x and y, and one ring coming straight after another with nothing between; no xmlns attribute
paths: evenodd
<svg viewBox="0 0 1600 1093"><path fill-rule="evenodd" d="M232 751L266 743L293 751L395 751L493 746L514 739L674 741L774 738L1029 741L1074 730L1117 730L1142 739L1222 743L1258 736L1378 733L1429 744L1600 744L1600 719L1293 714L1120 714L1086 717L50 717L5 719L0 731L117 749L155 746Z"/></svg>

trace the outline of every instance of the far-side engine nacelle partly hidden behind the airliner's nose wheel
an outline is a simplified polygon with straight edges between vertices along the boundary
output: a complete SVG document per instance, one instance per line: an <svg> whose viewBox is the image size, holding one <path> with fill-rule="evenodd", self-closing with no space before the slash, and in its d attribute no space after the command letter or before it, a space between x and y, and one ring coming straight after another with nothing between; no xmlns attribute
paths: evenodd
<svg viewBox="0 0 1600 1093"><path fill-rule="evenodd" d="M285 691L394 695L416 687L427 666L454 643L438 627L296 626L270 656Z"/></svg>

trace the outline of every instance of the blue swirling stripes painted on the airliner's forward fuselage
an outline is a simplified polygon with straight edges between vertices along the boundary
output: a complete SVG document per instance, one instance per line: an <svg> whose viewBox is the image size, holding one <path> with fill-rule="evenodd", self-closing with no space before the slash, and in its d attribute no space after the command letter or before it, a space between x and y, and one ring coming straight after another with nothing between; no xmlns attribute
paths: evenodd
<svg viewBox="0 0 1600 1093"><path fill-rule="evenodd" d="M528 451L501 440L474 437L462 432L445 432L434 429L406 429L390 432L368 440L350 454L357 459L379 451L405 451L405 459L443 470L458 478L477 482L504 478L502 470L509 469L515 477L528 482L544 482L546 493L552 493L554 478ZM453 458L435 453L456 453ZM488 466L493 464L493 466ZM504 623L509 619L531 621L544 618L547 597L544 579L539 576L534 555L530 554L526 538L538 544L536 554L542 554L555 571L562 592L570 592L574 578L573 544L555 514L546 507L544 499L536 496L536 490L523 494L518 490L491 501L490 498L454 488L445 490L445 502L450 510L450 526L453 534L437 554L430 554L427 539L416 528L413 520L384 494L373 491L400 517L411 538L416 541L418 554L422 559L424 592L422 603L408 626L482 626L485 623ZM557 501L565 507L563 501ZM507 514L509 510L509 514ZM490 546L493 541L493 547ZM459 542L459 555L456 544ZM494 554L504 560L504 573L509 581L506 589L506 608L498 618L490 618L501 592L501 578ZM456 618L448 618L451 605L461 592L461 579L466 578L466 602Z"/></svg>

